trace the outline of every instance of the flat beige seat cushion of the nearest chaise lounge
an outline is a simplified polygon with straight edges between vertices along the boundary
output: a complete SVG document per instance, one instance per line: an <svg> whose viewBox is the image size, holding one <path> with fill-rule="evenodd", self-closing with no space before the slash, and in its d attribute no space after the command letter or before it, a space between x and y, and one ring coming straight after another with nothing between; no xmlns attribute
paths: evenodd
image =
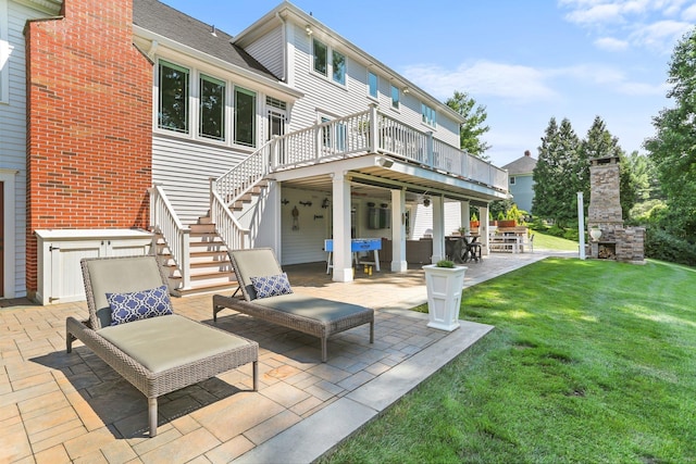
<svg viewBox="0 0 696 464"><path fill-rule="evenodd" d="M104 327L98 334L154 374L249 344L177 314Z"/></svg>

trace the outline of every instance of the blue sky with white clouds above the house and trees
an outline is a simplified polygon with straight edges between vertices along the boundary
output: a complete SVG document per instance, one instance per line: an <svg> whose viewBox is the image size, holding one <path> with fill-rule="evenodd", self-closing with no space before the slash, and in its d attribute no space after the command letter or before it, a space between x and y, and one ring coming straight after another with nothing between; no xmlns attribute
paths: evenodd
<svg viewBox="0 0 696 464"><path fill-rule="evenodd" d="M163 0L233 36L281 0ZM486 108L502 166L537 156L551 117L584 138L595 116L626 152L643 151L671 105L667 72L696 24L696 0L295 0L293 3L444 101Z"/></svg>

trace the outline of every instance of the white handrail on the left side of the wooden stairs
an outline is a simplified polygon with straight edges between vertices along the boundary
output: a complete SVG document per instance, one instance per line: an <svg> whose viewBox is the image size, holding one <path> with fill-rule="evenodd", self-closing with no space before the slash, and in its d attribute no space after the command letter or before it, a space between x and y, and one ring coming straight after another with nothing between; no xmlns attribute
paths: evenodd
<svg viewBox="0 0 696 464"><path fill-rule="evenodd" d="M184 227L160 184L150 188L150 226L162 235L174 265L182 275L181 289L190 288L190 228ZM153 239L153 249L157 250Z"/></svg>

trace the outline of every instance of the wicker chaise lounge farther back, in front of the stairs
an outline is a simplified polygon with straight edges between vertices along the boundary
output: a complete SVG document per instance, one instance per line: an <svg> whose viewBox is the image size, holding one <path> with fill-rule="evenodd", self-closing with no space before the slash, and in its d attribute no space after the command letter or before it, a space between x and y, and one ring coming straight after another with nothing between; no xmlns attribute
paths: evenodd
<svg viewBox="0 0 696 464"><path fill-rule="evenodd" d="M232 297L213 296L213 319L229 308L239 313L299 330L321 339L322 362L326 362L327 339L334 334L370 324L374 342L374 311L357 304L294 293L270 248L228 252L239 288ZM241 290L243 298L237 298Z"/></svg>

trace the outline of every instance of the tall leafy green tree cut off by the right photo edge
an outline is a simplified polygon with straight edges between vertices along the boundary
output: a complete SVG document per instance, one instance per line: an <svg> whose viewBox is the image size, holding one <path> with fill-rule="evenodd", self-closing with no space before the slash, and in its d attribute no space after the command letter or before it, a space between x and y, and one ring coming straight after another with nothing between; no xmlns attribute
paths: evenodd
<svg viewBox="0 0 696 464"><path fill-rule="evenodd" d="M661 226L672 236L696 242L696 27L672 53L667 97L673 106L652 118L656 135L645 148L656 165L669 211Z"/></svg>

